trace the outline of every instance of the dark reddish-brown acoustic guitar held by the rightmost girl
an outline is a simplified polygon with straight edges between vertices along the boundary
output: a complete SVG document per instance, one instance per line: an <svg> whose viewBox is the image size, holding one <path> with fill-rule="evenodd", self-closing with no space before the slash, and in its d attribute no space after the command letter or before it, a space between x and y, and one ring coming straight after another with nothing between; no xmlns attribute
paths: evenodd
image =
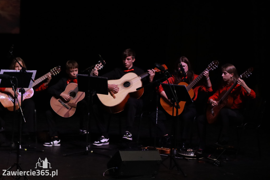
<svg viewBox="0 0 270 180"><path fill-rule="evenodd" d="M239 78L248 77L252 71L253 71L253 68L251 67L247 71L245 71L243 74L241 74ZM211 104L208 105L208 108L206 110L206 118L209 124L212 124L216 121L217 116L219 115L219 112L223 107L230 108L232 106L234 99L229 94L237 85L237 80L230 87L230 89L228 89L228 91L224 90L221 92L220 96L216 100L218 102L218 105L213 106L213 107L211 106Z"/></svg>

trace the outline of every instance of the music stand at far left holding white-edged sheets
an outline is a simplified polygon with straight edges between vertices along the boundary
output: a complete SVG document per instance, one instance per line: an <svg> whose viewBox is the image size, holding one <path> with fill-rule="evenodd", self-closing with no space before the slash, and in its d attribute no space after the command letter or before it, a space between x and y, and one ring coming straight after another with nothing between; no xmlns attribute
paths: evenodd
<svg viewBox="0 0 270 180"><path fill-rule="evenodd" d="M19 70L3 70L1 69L0 74L7 74L10 77L12 77L11 79L0 79L0 87L5 87L5 88L12 88L14 91L14 98L12 101L13 104L13 112L14 112L14 116L13 116L13 124L15 124L15 111L16 111L16 102L18 102L19 105L19 109L21 112L21 117L23 118L24 122L25 118L23 116L23 112L21 109L21 105L19 103L19 99L18 96L16 95L16 89L17 88L32 88L32 84L33 82L31 81L31 79L29 79L29 77L32 77L32 79L35 78L36 75L36 71L26 71L25 72L21 72ZM16 79L16 83L14 83L12 81L12 79ZM10 97L10 96L9 96ZM12 100L12 98L10 98ZM21 92L21 103L23 101L23 91ZM14 166L16 166L16 169L20 169L20 171L23 171L22 167L21 167L21 163L19 163L19 157L20 157L20 150L23 149L21 148L21 134L22 134L22 119L20 119L19 122L19 141L17 141L17 161L7 169L7 171L9 171L10 169L12 169ZM13 134L14 134L14 128L13 128L13 132L12 132L12 141L13 141ZM3 174L0 176L0 178L3 176ZM25 179L28 179L26 175L23 175ZM16 178L18 179L20 176L16 175Z"/></svg>

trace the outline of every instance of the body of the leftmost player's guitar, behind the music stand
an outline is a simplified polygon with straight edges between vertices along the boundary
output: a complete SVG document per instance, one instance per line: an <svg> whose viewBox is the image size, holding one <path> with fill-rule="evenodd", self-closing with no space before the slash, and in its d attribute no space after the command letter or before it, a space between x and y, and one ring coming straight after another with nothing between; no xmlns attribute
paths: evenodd
<svg viewBox="0 0 270 180"><path fill-rule="evenodd" d="M12 88L9 88L9 89L12 89ZM19 91L19 89L17 89L17 91ZM32 96L34 95L34 90L33 88L30 88L28 89L27 91L25 91L25 93L23 94L23 99L22 101L24 101L25 99L29 99L31 98ZM19 100L19 103L21 104L21 93L18 92L18 100ZM1 104L7 108L9 111L13 111L13 99L11 96L5 94L5 93L2 93L0 92L0 102ZM19 109L19 105L16 104L16 110Z"/></svg>

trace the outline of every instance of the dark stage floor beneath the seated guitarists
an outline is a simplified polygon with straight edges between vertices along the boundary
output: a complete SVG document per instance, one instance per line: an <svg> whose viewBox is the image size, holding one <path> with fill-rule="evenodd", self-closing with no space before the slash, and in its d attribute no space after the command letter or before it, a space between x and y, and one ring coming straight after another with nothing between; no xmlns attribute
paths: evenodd
<svg viewBox="0 0 270 180"><path fill-rule="evenodd" d="M11 142L12 138L12 121L6 122L7 132L7 144ZM29 171L29 173L38 172L45 173L44 175L28 175L29 179L269 179L269 133L264 128L260 131L261 140L261 154L259 158L258 145L256 140L256 132L247 130L244 131L241 139L241 149L239 154L235 158L236 149L236 132L232 128L231 146L235 148L226 149L223 154L218 158L220 166L214 164L214 160L208 159L208 155L217 157L223 149L218 149L214 146L214 142L218 135L218 125L207 126L207 149L203 153L202 159L186 159L179 155L168 158L168 156L161 155L161 159L164 160L159 165L158 174L151 177L147 174L145 176L121 176L116 177L109 174L107 163L110 161L110 157L114 157L114 154L118 151L141 151L141 148L147 146L153 146L154 140L149 135L149 123L146 119L143 119L141 123L140 139L137 142L137 128L138 119L134 125L133 141L127 142L122 141L119 135L119 123L118 117L113 116L110 123L110 145L105 146L90 146L89 150L92 152L85 151L86 148L86 136L79 135L78 122L74 118L60 118L58 121L61 146L56 147L44 147L42 142L46 141L47 138L47 124L43 115L38 117L38 143L35 144L34 139L22 138L22 144L28 144L29 147L23 146L27 151L20 150L21 157L19 163L23 171ZM124 127L124 122L122 122ZM170 123L167 124L169 127ZM15 126L16 127L16 126ZM15 128L17 129L17 127ZM152 135L154 132L153 126ZM14 139L15 142L18 139L18 135L15 130ZM95 124L91 122L91 133L89 141L93 142L99 136ZM197 132L196 128L193 129L193 145L197 143ZM35 151L32 151L32 147L36 147ZM74 148L76 147L76 148ZM97 149L100 148L100 149ZM106 149L103 149L106 148ZM192 147L191 147L192 148ZM12 165L15 165L9 171L16 172L17 154L16 150L8 150L10 148L1 147L0 151L0 168L6 170ZM40 152L38 150L42 150ZM80 152L81 154L63 156L63 154L70 154ZM84 153L88 152L88 153ZM132 155L133 156L133 155ZM136 156L136 153L134 154ZM40 159L39 159L40 158ZM192 157L194 158L194 157ZM46 161L47 159L47 161ZM140 171L142 163L148 163L147 159L142 159L138 165L130 165L131 168L128 171L136 172ZM39 163L45 161L50 168L38 167ZM138 158L139 161L139 158ZM177 166L179 169L177 169ZM37 167L37 168L36 168ZM158 165L157 165L158 167ZM153 170L153 166L149 167L149 171ZM180 170L181 169L181 170ZM43 170L43 171L42 171ZM4 173L4 171L2 171ZM2 174L1 173L1 174ZM57 174L56 174L57 173ZM186 174L186 177L184 174ZM52 177L52 175L54 175ZM2 176L0 179L14 179L10 175ZM21 177L20 179L23 179Z"/></svg>

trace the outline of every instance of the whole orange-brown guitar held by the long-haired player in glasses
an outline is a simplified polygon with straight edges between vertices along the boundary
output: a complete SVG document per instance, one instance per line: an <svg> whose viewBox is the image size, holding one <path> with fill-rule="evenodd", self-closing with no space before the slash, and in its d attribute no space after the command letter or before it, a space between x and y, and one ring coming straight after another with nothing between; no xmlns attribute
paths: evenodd
<svg viewBox="0 0 270 180"><path fill-rule="evenodd" d="M218 61L213 61L213 62L211 62L210 65L208 65L208 67L204 71L211 71L211 70L215 69L218 66L218 64L219 64ZM197 82L199 82L201 80L201 78L203 78L203 76L204 76L203 72L200 75L198 75L198 77L195 78L189 85L186 82L180 82L178 84L178 85L185 85L186 86L188 94L190 95L191 98L194 98L194 95L195 95L192 88L197 84ZM185 101L179 102L180 109L178 109L177 115L180 115L183 112L184 107L185 107L185 103L186 103ZM174 106L174 109L173 109L172 106L170 104L168 104L162 97L160 98L160 105L163 107L163 109L168 114L170 114L171 116L176 116L176 107L177 106ZM173 111L174 111L174 113L173 113Z"/></svg>

